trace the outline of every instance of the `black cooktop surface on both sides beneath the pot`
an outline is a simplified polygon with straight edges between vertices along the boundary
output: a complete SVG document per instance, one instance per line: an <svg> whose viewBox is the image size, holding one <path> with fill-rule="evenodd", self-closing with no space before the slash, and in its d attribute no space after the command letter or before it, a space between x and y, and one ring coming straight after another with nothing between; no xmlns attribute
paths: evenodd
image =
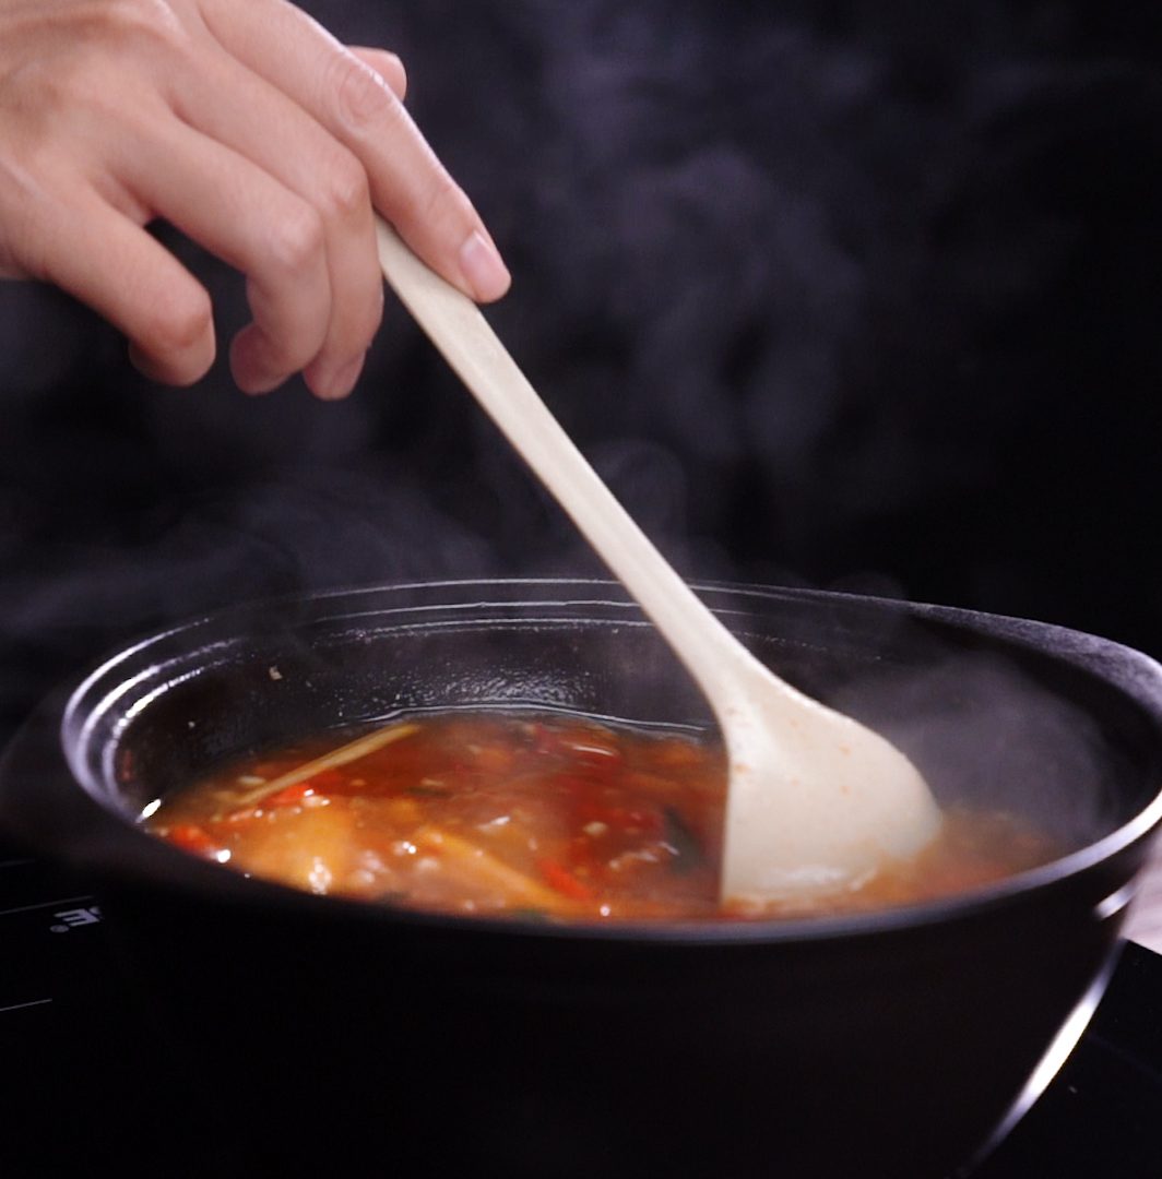
<svg viewBox="0 0 1162 1179"><path fill-rule="evenodd" d="M0 962L0 1174L116 1166L169 1179L221 1170L228 1144L199 1133L212 1081L184 1067L164 1029L143 1023L147 1000L118 967L100 898L4 843ZM288 1111L290 1126L304 1118L306 1104ZM1072 1056L973 1179L1158 1174L1162 956L1127 943Z"/></svg>

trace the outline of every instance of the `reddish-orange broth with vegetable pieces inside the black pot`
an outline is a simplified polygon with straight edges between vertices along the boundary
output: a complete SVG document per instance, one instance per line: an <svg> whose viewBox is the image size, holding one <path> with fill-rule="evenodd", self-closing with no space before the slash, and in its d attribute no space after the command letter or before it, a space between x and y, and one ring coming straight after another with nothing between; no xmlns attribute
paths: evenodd
<svg viewBox="0 0 1162 1179"><path fill-rule="evenodd" d="M951 810L932 845L858 887L722 907L721 747L559 714L444 713L274 793L334 736L235 763L168 799L150 830L310 893L455 914L754 920L960 893L1051 858L1002 814ZM294 773L290 773L295 777Z"/></svg>

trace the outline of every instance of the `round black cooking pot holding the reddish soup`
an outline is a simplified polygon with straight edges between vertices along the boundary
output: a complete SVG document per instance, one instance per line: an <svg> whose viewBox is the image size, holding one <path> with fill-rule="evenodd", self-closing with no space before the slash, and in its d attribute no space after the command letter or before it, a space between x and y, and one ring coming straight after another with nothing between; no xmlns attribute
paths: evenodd
<svg viewBox="0 0 1162 1179"><path fill-rule="evenodd" d="M1033 623L701 592L941 801L1022 812L1062 856L950 901L761 924L474 921L245 880L145 835L143 806L227 755L399 711L710 722L605 582L372 588L195 621L48 702L0 768L0 806L96 877L143 1020L197 1079L208 1165L334 1172L370 1152L373 1173L412 1175L937 1179L1036 1099L1101 996L1162 817L1162 668Z"/></svg>

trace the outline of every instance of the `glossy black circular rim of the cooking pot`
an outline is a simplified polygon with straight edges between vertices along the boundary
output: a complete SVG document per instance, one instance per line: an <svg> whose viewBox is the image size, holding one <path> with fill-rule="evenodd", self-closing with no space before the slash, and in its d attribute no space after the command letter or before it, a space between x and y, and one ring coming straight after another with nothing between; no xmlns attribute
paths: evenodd
<svg viewBox="0 0 1162 1179"><path fill-rule="evenodd" d="M897 617L931 619L951 625L963 633L985 633L1000 639L1004 644L1035 650L1050 654L1055 660L1081 667L1112 685L1134 703L1162 729L1162 665L1150 657L1115 640L1070 630L1049 623L1011 618L983 611L961 607L908 602L897 599L877 598L862 594L841 593L835 591L809 590L800 587L769 586L755 582L730 581L691 581L691 587L700 593L724 593L735 598L772 600L793 599L800 601L842 601L860 610L888 610ZM558 593L547 597L551 588ZM537 590L545 597L530 599L527 597L505 598L497 600L497 594L519 593ZM465 594L474 591L471 600ZM550 938L564 941L604 941L604 942L648 942L650 944L685 946L685 944L750 944L755 942L792 943L847 940L901 930L912 930L930 926L945 926L954 921L969 921L983 916L990 910L1020 903L1032 894L1042 894L1056 888L1068 887L1079 875L1085 874L1097 864L1107 861L1134 843L1145 839L1162 825L1162 780L1160 780L1153 798L1125 823L1101 839L1089 843L1059 858L1049 861L1025 871L1007 876L996 883L974 888L967 893L937 901L918 902L897 905L888 909L875 909L867 913L820 915L805 918L769 918L756 921L618 921L602 923L599 921L570 922L534 922L504 916L457 916L452 914L426 913L412 909L393 909L388 905L372 904L341 896L313 896L289 885L270 881L250 878L218 864L208 864L165 844L149 835L143 828L131 822L125 814L116 811L101 798L101 791L93 789L87 771L78 764L76 750L84 740L88 727L84 719L86 711L92 711L93 702L88 699L100 683L116 668L136 654L147 651L166 641L180 640L193 634L199 628L221 625L231 615L244 618L256 611L276 608L278 606L321 606L328 602L348 601L359 605L361 600L372 601L385 595L414 592L454 592L453 600L434 601L431 605L401 605L392 608L372 608L367 611L326 612L321 615L331 621L350 619L361 614L416 613L425 610L479 610L488 606L619 606L636 608L636 602L628 595L619 582L602 578L472 578L425 580L408 582L387 582L335 587L319 591L287 593L276 597L232 604L221 610L206 612L193 618L176 623L172 626L151 632L134 641L130 641L116 652L105 656L99 664L76 683L67 692L64 707L59 711L60 720L55 725L55 752L66 770L72 785L85 796L85 799L99 810L106 821L116 823L124 837L139 841L144 852L146 847L151 854L137 857L132 864L92 863L98 871L118 868L122 875L126 872L134 880L151 878L156 882L157 874L163 874L166 887L179 888L183 893L230 895L230 901L254 905L277 904L280 907L300 907L304 913L315 910L317 915L330 915L347 921L378 921L387 924L405 924L409 927L434 927L442 930L464 930L477 936L512 936ZM490 598L488 594L492 594ZM593 593L595 597L578 597L578 593ZM481 597L482 595L482 597ZM642 615L638 615L639 618ZM144 674L144 673L143 673ZM139 679L140 677L136 677ZM132 686L133 678L119 683L122 691ZM118 693L119 694L119 693ZM103 703L107 703L103 693ZM52 710L57 713L58 704ZM27 738L21 732L13 740L13 747ZM8 762L8 758L5 758ZM86 780L90 779L90 780ZM112 857L116 859L116 856ZM156 871L152 865L157 864ZM1112 896L1098 904L1098 909L1108 908L1116 911L1133 895L1134 882L1123 887ZM1124 894L1124 895L1123 895Z"/></svg>

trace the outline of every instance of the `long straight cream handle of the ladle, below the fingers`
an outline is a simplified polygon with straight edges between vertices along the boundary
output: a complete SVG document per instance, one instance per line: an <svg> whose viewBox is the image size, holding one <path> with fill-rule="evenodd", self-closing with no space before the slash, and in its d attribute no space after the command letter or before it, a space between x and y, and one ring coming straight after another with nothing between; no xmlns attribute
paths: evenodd
<svg viewBox="0 0 1162 1179"><path fill-rule="evenodd" d="M637 599L709 696L724 656L744 653L602 482L480 309L378 218L383 276L533 473Z"/></svg>

